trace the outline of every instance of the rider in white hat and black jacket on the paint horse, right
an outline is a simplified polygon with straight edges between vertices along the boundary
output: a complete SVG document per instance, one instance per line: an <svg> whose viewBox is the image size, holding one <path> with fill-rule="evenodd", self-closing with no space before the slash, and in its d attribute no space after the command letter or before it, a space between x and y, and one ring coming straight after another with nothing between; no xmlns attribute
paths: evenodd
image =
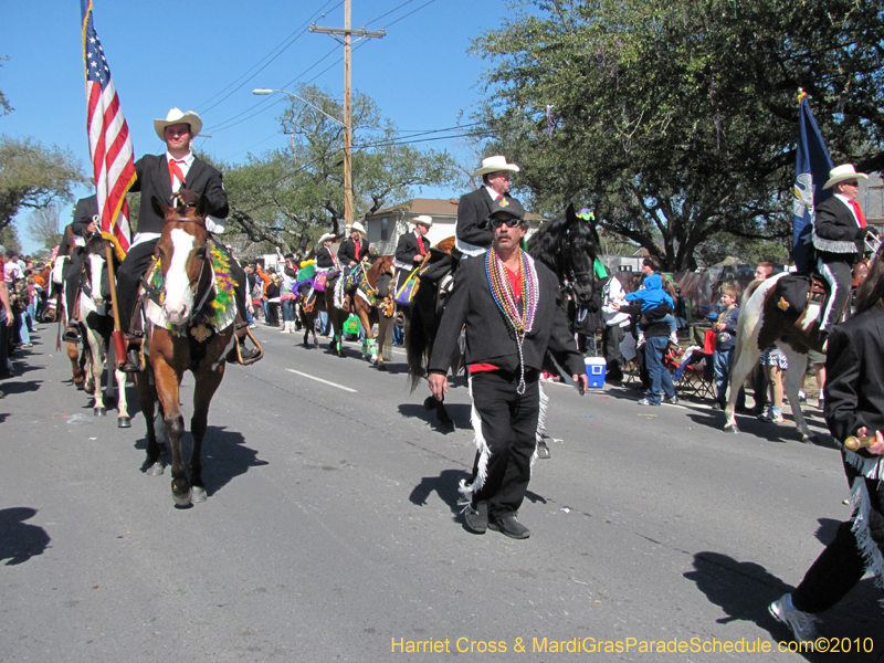
<svg viewBox="0 0 884 663"><path fill-rule="evenodd" d="M856 172L852 164L833 168L823 189L834 189L834 196L817 206L813 222L817 270L831 288L820 316L821 344L825 343L830 327L841 322L850 301L853 266L862 259L869 234L865 217L856 202L860 179L869 179L869 176Z"/></svg>

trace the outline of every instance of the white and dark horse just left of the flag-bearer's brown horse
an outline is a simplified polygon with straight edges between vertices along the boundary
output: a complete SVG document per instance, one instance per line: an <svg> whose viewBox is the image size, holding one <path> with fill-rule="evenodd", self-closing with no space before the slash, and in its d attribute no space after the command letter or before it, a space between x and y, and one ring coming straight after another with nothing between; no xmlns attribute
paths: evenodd
<svg viewBox="0 0 884 663"><path fill-rule="evenodd" d="M131 419L126 409L126 373L116 369L116 361L108 361L113 347L114 316L110 309L110 292L107 282L107 246L113 243L95 234L86 242L85 278L80 291L80 337L83 338L86 380L85 390L93 398L93 414L104 417L107 410L102 397L102 375L105 366L114 366L116 382L117 428L130 428ZM112 251L113 253L113 251ZM73 344L76 346L76 344ZM108 391L109 385L108 370Z"/></svg>

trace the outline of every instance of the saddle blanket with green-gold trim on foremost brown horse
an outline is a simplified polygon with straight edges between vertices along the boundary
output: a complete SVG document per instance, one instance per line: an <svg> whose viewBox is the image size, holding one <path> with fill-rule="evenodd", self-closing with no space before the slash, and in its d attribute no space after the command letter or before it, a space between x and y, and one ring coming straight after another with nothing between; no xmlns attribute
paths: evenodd
<svg viewBox="0 0 884 663"><path fill-rule="evenodd" d="M197 302L199 308L194 315L193 324L200 319L199 314L201 313L201 322L215 329L224 329L236 319L236 299L233 296L236 284L230 272L230 256L222 252L213 241L209 242L209 255L211 261L208 266L214 277L214 287L209 291L204 298L199 295L202 301ZM176 327L166 319L166 314L162 311L162 302L166 297L162 271L157 265L148 281L145 316L158 327L164 327L179 335L185 334L186 328L191 325Z"/></svg>

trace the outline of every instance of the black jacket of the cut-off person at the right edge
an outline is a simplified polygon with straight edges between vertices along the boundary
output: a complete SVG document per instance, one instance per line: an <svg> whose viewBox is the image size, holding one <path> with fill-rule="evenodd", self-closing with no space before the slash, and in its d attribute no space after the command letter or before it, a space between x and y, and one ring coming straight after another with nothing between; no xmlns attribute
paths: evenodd
<svg viewBox="0 0 884 663"><path fill-rule="evenodd" d="M880 305L829 332L825 359L825 423L843 442L856 430L884 431L884 311ZM857 453L869 457L869 453Z"/></svg>

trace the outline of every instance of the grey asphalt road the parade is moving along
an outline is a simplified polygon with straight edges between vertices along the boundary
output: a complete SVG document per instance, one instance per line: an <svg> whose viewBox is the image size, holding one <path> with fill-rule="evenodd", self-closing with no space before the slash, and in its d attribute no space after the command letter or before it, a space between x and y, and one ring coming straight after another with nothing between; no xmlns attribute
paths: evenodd
<svg viewBox="0 0 884 663"><path fill-rule="evenodd" d="M54 332L0 382L0 661L832 657L778 652L767 612L850 515L829 438L746 418L734 435L707 404L549 385L562 442L535 466L532 537L476 536L456 505L473 460L462 382L445 433L401 354L381 373L355 345L338 359L261 328L266 358L231 367L213 401L209 499L177 509L168 471L139 471L134 388L131 429L93 418ZM878 598L866 578L824 615L823 634L850 639L836 660L869 659L866 638L884 649ZM599 641L628 651L587 651Z"/></svg>

